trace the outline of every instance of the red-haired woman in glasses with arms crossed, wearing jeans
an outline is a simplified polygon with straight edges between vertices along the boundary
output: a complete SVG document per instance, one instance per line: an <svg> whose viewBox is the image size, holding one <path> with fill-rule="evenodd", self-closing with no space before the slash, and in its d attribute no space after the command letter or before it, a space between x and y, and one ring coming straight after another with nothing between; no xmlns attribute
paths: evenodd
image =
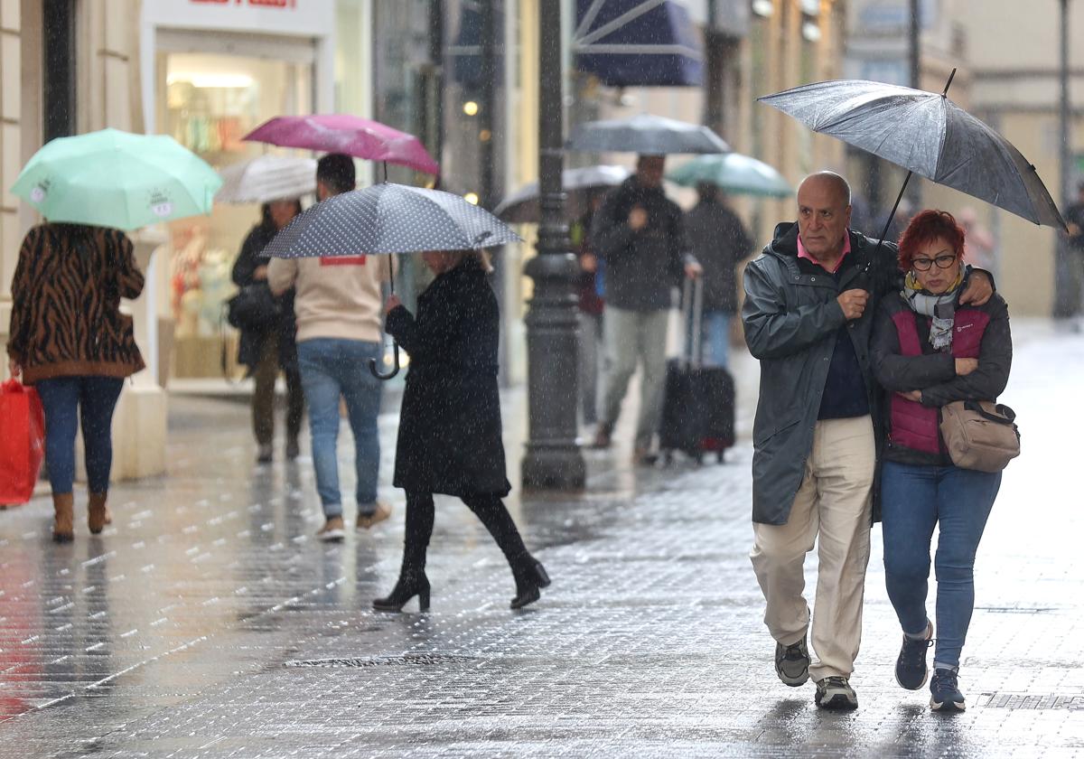
<svg viewBox="0 0 1084 759"><path fill-rule="evenodd" d="M915 216L900 237L903 291L881 301L872 345L888 417L880 490L885 581L903 628L895 679L912 691L925 684L937 629L930 706L946 711L965 707L957 673L975 607L975 554L1002 475L953 464L939 410L958 400L995 400L1012 362L1005 300L995 293L982 306L959 304L969 272L963 254L964 230L952 214ZM935 628L926 612L934 527Z"/></svg>

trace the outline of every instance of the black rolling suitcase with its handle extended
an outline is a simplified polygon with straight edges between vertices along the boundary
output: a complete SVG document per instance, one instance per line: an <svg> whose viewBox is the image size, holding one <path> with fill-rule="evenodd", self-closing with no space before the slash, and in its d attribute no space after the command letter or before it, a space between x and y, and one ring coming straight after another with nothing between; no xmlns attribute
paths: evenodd
<svg viewBox="0 0 1084 759"><path fill-rule="evenodd" d="M701 365L700 322L704 283L685 281L682 291L683 345L667 363L666 395L659 425L659 448L667 463L681 451L698 462L704 454L723 452L734 445L734 378L722 366Z"/></svg>

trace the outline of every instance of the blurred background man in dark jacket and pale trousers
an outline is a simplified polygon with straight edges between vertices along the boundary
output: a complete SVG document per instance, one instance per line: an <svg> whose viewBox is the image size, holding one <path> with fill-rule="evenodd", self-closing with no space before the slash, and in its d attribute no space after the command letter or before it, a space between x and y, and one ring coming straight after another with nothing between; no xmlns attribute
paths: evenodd
<svg viewBox="0 0 1084 759"><path fill-rule="evenodd" d="M662 411L672 290L682 275L701 272L688 253L681 208L662 191L664 165L664 156L640 156L636 173L606 195L591 227L595 253L606 263L606 390L595 447L609 447L638 361L643 378L636 463L650 461Z"/></svg>

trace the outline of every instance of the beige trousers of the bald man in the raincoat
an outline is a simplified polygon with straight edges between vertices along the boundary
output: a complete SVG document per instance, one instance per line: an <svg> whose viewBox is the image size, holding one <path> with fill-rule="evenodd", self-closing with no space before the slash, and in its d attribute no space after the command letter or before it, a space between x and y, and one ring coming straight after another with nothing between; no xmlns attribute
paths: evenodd
<svg viewBox="0 0 1084 759"><path fill-rule="evenodd" d="M862 596L869 562L869 519L876 468L869 416L816 423L805 475L785 525L753 524L750 558L777 642L805 636L805 554L817 546L810 677L851 677L862 640Z"/></svg>

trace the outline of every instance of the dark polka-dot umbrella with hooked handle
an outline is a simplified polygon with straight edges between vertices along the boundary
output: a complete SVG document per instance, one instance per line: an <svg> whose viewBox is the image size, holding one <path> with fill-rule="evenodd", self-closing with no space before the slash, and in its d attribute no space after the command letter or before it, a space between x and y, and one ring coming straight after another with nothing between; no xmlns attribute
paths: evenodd
<svg viewBox="0 0 1084 759"><path fill-rule="evenodd" d="M309 258L385 253L390 256L423 250L475 250L520 240L503 221L459 195L383 183L318 203L279 232L262 255ZM399 346L395 346L395 369L389 374L380 374L375 360L369 363L377 377L393 377L399 372Z"/></svg>

